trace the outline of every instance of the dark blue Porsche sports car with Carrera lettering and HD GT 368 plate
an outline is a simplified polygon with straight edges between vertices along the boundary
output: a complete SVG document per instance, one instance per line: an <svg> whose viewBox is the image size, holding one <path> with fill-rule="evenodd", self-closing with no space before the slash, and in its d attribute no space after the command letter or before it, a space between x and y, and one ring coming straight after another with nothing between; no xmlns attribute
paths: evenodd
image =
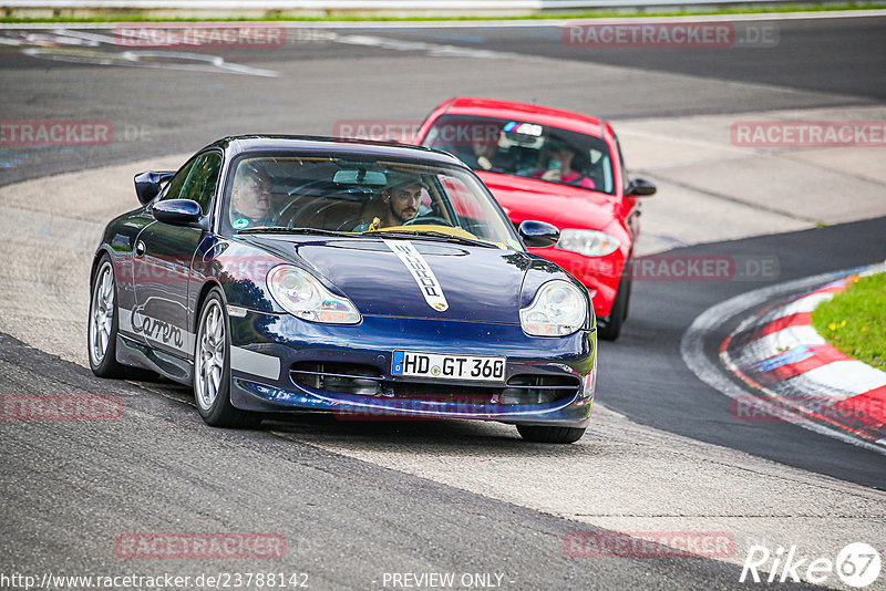
<svg viewBox="0 0 886 591"><path fill-rule="evenodd" d="M433 149L226 137L135 177L92 265L89 357L193 384L214 426L267 413L473 418L571 443L597 338L587 289L526 247L483 183Z"/></svg>

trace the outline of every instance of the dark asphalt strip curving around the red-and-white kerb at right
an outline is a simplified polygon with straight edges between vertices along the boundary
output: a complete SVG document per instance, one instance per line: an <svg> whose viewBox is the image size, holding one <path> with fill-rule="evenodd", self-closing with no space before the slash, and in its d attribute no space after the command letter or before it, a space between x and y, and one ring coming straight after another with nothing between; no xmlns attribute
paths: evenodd
<svg viewBox="0 0 886 591"><path fill-rule="evenodd" d="M779 253L780 277L786 282L817 273L851 269L876 262L872 253L884 250L886 219L846 224L830 228L782 234L674 249L669 255L728 256L734 252L765 256ZM851 237L851 238L849 238ZM822 260L827 265L823 266ZM638 281L631 314L643 319L619 339L600 371L599 387L614 409L635 421L672 433L743 449L753 454L820 471L836 478L886 488L883 457L872 452L847 449L845 444L823 438L789 423L741 423L730 414L722 397L704 386L697 388L693 374L676 364L673 352L699 311L743 291L746 283L714 282L701 290L687 290L681 281ZM756 287L756 286L755 286ZM760 287L763 287L762 284ZM700 293L699 293L700 292ZM743 317L724 322L705 339L705 351L717 359L720 343ZM637 375L631 367L642 366ZM624 376L633 375L630 385ZM642 394L640 394L642 393ZM691 419L687 421L687 414ZM729 428L723 428L729 426ZM810 453L814 449L814 453Z"/></svg>

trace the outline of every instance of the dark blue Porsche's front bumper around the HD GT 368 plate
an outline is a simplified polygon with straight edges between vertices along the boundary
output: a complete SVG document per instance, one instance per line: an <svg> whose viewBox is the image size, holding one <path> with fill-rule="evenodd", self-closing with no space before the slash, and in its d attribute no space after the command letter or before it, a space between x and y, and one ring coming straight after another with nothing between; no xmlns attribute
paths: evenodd
<svg viewBox="0 0 886 591"><path fill-rule="evenodd" d="M349 418L471 418L584 427L596 382L596 333L526 335L518 325L363 317L357 325L307 322L248 311L230 317L230 400L257 412L332 412ZM506 356L504 383L391 375L393 351ZM306 364L361 367L379 393L308 384ZM331 375L331 374L330 374ZM340 381L340 380L339 380ZM558 386L514 385L556 383ZM547 388L547 390L546 390ZM346 388L347 390L347 388ZM523 398L517 397L524 396ZM526 397L538 394L538 400ZM549 400L554 397L554 400Z"/></svg>

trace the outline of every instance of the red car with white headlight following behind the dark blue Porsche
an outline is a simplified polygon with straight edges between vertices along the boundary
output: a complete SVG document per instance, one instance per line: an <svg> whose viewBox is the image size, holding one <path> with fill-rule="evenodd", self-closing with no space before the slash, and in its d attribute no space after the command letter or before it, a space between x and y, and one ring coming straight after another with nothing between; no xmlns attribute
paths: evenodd
<svg viewBox="0 0 886 591"><path fill-rule="evenodd" d="M656 187L628 178L608 123L546 106L459 97L429 115L415 143L465 162L515 225L538 219L560 228L556 246L530 250L588 287L599 336L618 339L640 230L637 198Z"/></svg>

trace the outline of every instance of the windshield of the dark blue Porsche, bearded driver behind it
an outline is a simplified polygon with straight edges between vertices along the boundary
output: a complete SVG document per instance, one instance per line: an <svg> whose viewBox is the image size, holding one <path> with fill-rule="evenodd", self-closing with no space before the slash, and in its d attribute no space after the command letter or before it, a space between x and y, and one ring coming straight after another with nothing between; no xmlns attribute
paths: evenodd
<svg viewBox="0 0 886 591"><path fill-rule="evenodd" d="M262 154L235 163L226 218L237 232L408 232L523 250L474 175L353 155Z"/></svg>

